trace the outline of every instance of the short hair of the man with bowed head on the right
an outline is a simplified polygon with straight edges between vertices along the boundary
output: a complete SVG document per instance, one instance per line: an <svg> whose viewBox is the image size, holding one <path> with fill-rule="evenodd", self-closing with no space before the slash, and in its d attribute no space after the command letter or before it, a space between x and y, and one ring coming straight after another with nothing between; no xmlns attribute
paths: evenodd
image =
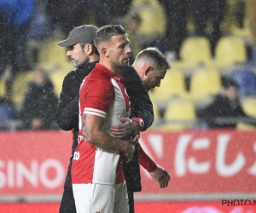
<svg viewBox="0 0 256 213"><path fill-rule="evenodd" d="M153 66L163 67L166 69L171 68L171 65L166 60L166 57L160 52L159 49L155 47L150 47L140 51L135 59L136 60L150 60L153 63Z"/></svg>

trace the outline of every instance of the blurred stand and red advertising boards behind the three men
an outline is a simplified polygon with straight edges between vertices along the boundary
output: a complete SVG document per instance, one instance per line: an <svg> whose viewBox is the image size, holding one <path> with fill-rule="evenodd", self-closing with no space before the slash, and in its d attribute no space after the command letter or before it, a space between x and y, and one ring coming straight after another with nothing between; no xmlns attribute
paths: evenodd
<svg viewBox="0 0 256 213"><path fill-rule="evenodd" d="M154 46L172 66L149 92L155 120L141 141L172 180L160 190L142 168L137 212L231 212L222 199L256 199L255 0L0 0L0 20L1 212L58 210L72 133L55 109L74 68L57 43L84 24L121 24L131 64Z"/></svg>

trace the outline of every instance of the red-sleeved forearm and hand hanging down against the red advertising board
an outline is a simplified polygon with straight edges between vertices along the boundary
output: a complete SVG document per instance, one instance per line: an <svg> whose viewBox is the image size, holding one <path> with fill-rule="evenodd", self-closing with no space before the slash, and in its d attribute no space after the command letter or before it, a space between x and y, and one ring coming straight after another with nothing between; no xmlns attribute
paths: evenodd
<svg viewBox="0 0 256 213"><path fill-rule="evenodd" d="M144 152L143 147L141 147L140 143L137 143L137 145L140 164L143 166L144 169L148 170L149 175L159 183L160 188L167 187L171 176L164 168L154 163L154 160L151 159L148 154Z"/></svg>

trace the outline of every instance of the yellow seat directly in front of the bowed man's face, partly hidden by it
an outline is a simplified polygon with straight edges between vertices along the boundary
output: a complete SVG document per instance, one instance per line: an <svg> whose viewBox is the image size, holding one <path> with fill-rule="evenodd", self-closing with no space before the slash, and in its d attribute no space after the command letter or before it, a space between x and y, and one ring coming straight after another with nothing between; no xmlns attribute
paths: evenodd
<svg viewBox="0 0 256 213"><path fill-rule="evenodd" d="M168 101L173 96L181 96L186 93L183 72L177 69L170 69L166 72L166 77L161 80L159 88L149 91L153 101Z"/></svg>

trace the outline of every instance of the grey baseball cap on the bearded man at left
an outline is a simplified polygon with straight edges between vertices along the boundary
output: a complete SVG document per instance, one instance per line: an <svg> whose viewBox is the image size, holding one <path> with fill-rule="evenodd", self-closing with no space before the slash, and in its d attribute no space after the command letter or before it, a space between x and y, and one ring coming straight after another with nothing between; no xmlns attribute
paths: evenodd
<svg viewBox="0 0 256 213"><path fill-rule="evenodd" d="M96 31L98 28L96 26L84 25L77 26L69 33L66 40L58 43L61 47L72 46L76 43L93 43L93 39L96 36Z"/></svg>

